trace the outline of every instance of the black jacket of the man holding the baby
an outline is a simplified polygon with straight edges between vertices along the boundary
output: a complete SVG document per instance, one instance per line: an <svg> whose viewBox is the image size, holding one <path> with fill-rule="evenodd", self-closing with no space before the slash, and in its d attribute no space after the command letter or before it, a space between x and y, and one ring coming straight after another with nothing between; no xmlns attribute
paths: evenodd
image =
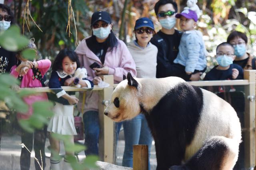
<svg viewBox="0 0 256 170"><path fill-rule="evenodd" d="M173 67L173 61L178 55L178 47L182 32L175 30L173 35L167 35L159 31L151 39L151 43L158 48L156 77L169 77L176 72Z"/></svg>

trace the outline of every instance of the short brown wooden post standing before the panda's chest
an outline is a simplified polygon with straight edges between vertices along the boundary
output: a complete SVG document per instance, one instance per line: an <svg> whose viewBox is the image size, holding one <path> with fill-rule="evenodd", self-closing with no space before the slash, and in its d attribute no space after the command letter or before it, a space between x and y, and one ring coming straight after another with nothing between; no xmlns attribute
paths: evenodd
<svg viewBox="0 0 256 170"><path fill-rule="evenodd" d="M133 145L133 170L148 170L148 145Z"/></svg>

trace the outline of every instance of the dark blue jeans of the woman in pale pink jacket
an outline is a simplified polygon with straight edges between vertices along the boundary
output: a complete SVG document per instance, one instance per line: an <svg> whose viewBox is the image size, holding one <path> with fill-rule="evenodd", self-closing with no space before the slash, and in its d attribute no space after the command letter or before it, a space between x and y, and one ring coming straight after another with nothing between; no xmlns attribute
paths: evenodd
<svg viewBox="0 0 256 170"><path fill-rule="evenodd" d="M83 115L84 119L84 145L86 150L85 155L98 155L99 154L99 135L100 135L100 123L98 111L87 111ZM115 135L116 142L122 123L115 123Z"/></svg>

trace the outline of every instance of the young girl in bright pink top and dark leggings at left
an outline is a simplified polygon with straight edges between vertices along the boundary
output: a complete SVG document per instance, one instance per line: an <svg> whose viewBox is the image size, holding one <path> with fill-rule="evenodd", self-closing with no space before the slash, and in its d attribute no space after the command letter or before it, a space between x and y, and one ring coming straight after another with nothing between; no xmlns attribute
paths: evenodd
<svg viewBox="0 0 256 170"><path fill-rule="evenodd" d="M28 47L25 49L37 50L36 45L30 40ZM20 87L42 87L42 78L51 66L49 59L42 59L39 61L28 61L21 55L19 51L16 55L18 63L11 68L11 75L20 79ZM28 104L29 109L26 114L17 113L17 119L29 119L32 115L32 104L36 101L48 100L46 93L40 93L38 95L31 95L23 98ZM35 157L41 158L40 150L42 153L42 165L45 167L45 153L44 145L46 140L46 127L43 129L36 129L34 133L26 132L22 130L21 142L25 144L28 150L32 150L33 147L33 134L34 134L34 151ZM21 149L20 154L20 169L28 170L30 168L30 152L26 148ZM40 166L35 160L36 170L40 170Z"/></svg>

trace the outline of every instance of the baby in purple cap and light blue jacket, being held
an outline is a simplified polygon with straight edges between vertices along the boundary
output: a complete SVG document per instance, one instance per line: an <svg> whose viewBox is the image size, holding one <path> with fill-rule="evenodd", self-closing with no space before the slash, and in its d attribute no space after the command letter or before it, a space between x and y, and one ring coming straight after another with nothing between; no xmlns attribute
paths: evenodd
<svg viewBox="0 0 256 170"><path fill-rule="evenodd" d="M206 48L202 33L195 30L197 14L192 10L184 10L176 14L180 18L180 28L184 31L180 40L179 53L174 63L182 65L187 75L206 70Z"/></svg>

